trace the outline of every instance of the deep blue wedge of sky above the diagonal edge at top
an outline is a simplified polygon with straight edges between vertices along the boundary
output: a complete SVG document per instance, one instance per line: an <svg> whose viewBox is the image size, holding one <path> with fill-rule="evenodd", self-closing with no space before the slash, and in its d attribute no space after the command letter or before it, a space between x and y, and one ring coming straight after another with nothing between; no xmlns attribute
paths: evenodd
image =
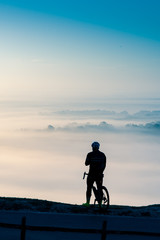
<svg viewBox="0 0 160 240"><path fill-rule="evenodd" d="M5 0L0 3L160 40L159 0Z"/></svg>

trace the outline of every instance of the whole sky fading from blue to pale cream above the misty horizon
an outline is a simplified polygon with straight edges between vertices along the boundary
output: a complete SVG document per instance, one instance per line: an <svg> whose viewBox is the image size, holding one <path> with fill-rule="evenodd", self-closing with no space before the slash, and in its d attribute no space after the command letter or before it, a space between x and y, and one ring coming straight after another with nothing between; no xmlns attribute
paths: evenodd
<svg viewBox="0 0 160 240"><path fill-rule="evenodd" d="M159 0L0 0L0 100L160 96Z"/></svg>

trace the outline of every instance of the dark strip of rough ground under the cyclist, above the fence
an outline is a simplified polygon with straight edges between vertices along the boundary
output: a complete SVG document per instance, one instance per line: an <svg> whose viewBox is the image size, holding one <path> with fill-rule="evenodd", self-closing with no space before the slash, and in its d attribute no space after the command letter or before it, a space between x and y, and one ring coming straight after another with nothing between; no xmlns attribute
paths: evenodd
<svg viewBox="0 0 160 240"><path fill-rule="evenodd" d="M99 208L95 206L84 207L82 205L65 204L38 199L27 198L5 198L0 197L0 211L32 211L32 212L53 212L53 213L80 213L99 214ZM132 216L132 217L156 217L160 218L160 204L133 207L111 205L107 211L101 214L110 216Z"/></svg>

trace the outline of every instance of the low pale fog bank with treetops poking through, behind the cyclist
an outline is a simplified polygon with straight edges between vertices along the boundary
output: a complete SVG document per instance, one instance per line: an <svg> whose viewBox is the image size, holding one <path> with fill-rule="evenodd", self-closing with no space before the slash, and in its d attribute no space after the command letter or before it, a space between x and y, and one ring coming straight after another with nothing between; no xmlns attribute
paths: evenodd
<svg viewBox="0 0 160 240"><path fill-rule="evenodd" d="M111 203L159 203L159 116L157 109L2 109L1 196L84 202L84 161L96 140L107 155Z"/></svg>

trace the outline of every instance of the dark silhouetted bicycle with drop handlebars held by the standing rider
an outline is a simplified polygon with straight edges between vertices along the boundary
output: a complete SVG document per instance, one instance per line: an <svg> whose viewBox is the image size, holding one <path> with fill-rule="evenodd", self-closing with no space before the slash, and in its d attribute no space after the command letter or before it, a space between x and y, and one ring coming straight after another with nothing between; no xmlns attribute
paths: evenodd
<svg viewBox="0 0 160 240"><path fill-rule="evenodd" d="M86 175L88 175L88 173L84 172L83 179L85 179ZM94 196L95 196L94 205L98 204L99 207L103 207L107 210L108 207L109 207L109 204L110 204L110 197L109 197L108 189L105 186L102 186L102 201L101 201L101 203L99 203L98 189L96 188L95 185L93 185L92 189L93 189L93 193L94 193Z"/></svg>

